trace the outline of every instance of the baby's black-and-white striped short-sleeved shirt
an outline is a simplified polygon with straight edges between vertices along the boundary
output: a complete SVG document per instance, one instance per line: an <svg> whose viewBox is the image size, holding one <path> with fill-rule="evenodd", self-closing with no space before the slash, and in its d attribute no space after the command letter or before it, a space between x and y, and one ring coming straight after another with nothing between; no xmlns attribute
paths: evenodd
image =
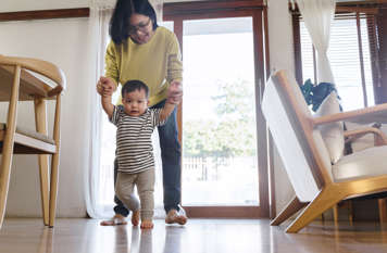
<svg viewBox="0 0 387 253"><path fill-rule="evenodd" d="M154 127L165 123L160 122L161 110L148 109L133 117L124 112L124 106L114 106L110 121L117 127L118 172L134 174L154 168L151 137Z"/></svg>

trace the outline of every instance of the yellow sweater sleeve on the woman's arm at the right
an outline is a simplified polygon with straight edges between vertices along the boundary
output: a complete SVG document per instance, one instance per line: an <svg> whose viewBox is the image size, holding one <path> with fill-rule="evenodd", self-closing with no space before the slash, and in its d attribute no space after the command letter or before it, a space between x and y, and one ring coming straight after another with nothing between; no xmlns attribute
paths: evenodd
<svg viewBox="0 0 387 253"><path fill-rule="evenodd" d="M183 62L180 47L178 45L176 35L171 36L171 42L167 49L167 76L166 80L168 83L173 80L182 81L183 80Z"/></svg>

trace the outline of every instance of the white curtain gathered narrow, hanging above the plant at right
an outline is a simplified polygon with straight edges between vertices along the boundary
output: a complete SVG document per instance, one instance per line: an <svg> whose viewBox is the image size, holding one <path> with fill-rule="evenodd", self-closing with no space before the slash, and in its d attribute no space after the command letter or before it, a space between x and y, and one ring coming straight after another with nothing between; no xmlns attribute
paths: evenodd
<svg viewBox="0 0 387 253"><path fill-rule="evenodd" d="M317 51L317 83L335 83L327 50L330 24L335 16L335 0L296 0L307 29Z"/></svg>

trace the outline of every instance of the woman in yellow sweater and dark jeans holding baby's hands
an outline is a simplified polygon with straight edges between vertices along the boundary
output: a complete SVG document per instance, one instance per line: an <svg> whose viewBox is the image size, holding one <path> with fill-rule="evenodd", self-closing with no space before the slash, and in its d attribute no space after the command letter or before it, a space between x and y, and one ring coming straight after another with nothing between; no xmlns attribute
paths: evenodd
<svg viewBox="0 0 387 253"><path fill-rule="evenodd" d="M99 93L114 92L117 84L129 79L139 79L149 87L149 106L162 107L165 103L167 87L177 87L171 92L178 101L183 96L183 63L176 36L164 27L158 26L155 12L148 0L117 0L110 21L112 41L105 54L105 76L97 84ZM121 98L118 99L121 103ZM180 144L177 139L176 109L167 123L158 128L160 137L165 223L186 224L180 203ZM114 161L114 181L117 162ZM115 197L115 215L103 220L102 226L126 224L128 211ZM183 213L183 214L182 214Z"/></svg>

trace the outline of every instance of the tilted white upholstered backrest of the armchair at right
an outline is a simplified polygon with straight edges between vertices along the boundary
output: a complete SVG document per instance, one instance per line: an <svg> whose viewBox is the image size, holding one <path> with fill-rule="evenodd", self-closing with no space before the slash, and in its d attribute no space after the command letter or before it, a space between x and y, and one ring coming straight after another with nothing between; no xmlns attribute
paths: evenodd
<svg viewBox="0 0 387 253"><path fill-rule="evenodd" d="M323 170L332 178L330 159L296 79L285 71L267 81L262 111L298 199L312 201L325 184Z"/></svg>

